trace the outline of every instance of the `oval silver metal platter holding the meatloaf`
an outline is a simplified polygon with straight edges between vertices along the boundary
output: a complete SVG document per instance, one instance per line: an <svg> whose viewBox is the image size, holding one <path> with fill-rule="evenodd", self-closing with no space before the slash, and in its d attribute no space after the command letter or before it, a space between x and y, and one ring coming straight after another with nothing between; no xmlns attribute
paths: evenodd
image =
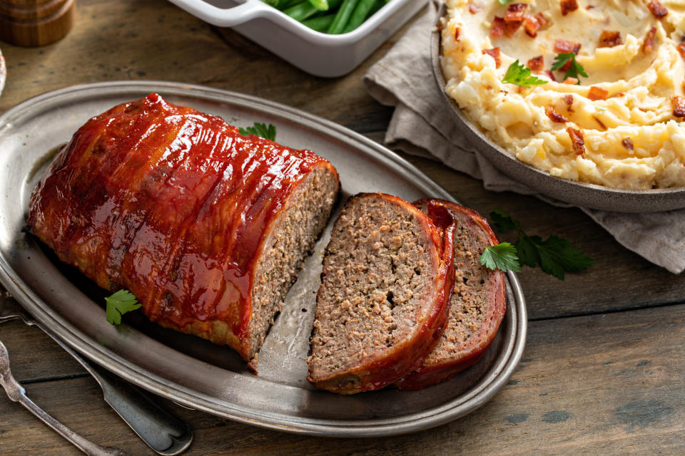
<svg viewBox="0 0 685 456"><path fill-rule="evenodd" d="M22 232L29 195L51 152L93 115L158 92L235 125L276 125L277 139L308 147L340 172L345 199L383 191L412 200L452 199L390 150L340 125L268 100L166 82L113 82L40 95L0 117L0 281L36 320L91 360L189 407L275 430L310 435L377 436L414 432L472 412L497 393L522 356L526 309L508 276L508 310L497 340L473 368L423 390L381 390L349 397L316 390L305 358L329 228L288 294L259 354L254 375L230 348L160 328L140 313L120 326L105 318L105 293ZM338 204L340 206L340 204ZM338 207L339 209L339 207Z"/></svg>

